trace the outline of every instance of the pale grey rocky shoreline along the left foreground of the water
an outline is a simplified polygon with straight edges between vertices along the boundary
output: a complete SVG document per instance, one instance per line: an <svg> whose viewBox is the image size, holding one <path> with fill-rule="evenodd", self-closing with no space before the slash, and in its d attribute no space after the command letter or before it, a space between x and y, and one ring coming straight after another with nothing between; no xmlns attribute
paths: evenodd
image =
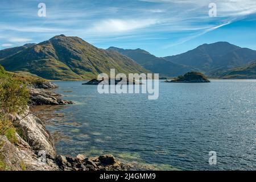
<svg viewBox="0 0 256 182"><path fill-rule="evenodd" d="M63 105L72 104L70 101L61 100L59 94L52 90L56 85L50 83L31 85L31 105ZM106 170L131 170L133 164L117 161L112 155L102 155L86 158L77 155L76 158L57 155L51 135L46 130L44 123L31 113L29 107L22 115L9 115L10 121L16 127L15 143L10 142L5 136L0 136L1 152L6 157L6 163L12 170L29 171L106 171ZM19 131L19 132L18 132ZM146 167L144 169L147 169Z"/></svg>

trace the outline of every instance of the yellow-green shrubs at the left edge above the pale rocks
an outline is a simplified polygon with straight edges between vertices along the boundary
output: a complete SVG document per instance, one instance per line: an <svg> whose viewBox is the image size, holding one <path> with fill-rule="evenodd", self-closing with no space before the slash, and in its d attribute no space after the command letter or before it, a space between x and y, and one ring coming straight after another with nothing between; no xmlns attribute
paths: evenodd
<svg viewBox="0 0 256 182"><path fill-rule="evenodd" d="M27 109L30 94L26 85L19 80L15 80L10 73L0 65L0 137L5 135L11 143L17 143L16 128L9 120L9 114L21 114ZM0 140L1 142L1 140ZM0 171L13 169L13 166L6 164L6 156L2 155L0 143ZM9 160L9 159L8 159ZM23 163L19 168L26 169Z"/></svg>

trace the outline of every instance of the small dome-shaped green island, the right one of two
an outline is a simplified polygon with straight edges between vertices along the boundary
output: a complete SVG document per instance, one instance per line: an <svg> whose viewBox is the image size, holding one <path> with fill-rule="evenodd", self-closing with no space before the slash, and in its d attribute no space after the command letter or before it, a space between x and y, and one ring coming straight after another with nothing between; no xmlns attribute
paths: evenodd
<svg viewBox="0 0 256 182"><path fill-rule="evenodd" d="M181 82L181 83L207 83L210 82L208 78L200 72L188 72L184 76L179 76L174 80L165 82Z"/></svg>

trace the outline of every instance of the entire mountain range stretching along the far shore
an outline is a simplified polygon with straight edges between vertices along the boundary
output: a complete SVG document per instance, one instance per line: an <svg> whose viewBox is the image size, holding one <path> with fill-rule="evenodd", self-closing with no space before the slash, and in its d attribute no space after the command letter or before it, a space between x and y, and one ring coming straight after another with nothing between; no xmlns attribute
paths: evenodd
<svg viewBox="0 0 256 182"><path fill-rule="evenodd" d="M254 62L251 63L255 60L256 51L228 42L203 44L179 55L156 57L143 49L99 49L65 35L0 50L0 64L7 71L26 71L52 80L96 78L99 73L109 73L111 68L117 73L160 73L160 77L196 71L216 78L256 78ZM237 71L240 76L233 75Z"/></svg>

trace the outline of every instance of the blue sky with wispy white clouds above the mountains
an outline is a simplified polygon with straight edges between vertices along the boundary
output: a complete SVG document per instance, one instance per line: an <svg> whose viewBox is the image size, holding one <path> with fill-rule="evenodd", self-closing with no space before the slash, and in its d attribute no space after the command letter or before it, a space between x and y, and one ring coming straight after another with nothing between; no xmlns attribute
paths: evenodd
<svg viewBox="0 0 256 182"><path fill-rule="evenodd" d="M46 4L46 17L38 4ZM209 16L215 3L217 16ZM176 55L226 41L256 49L255 0L1 0L0 49L64 34L99 48Z"/></svg>

